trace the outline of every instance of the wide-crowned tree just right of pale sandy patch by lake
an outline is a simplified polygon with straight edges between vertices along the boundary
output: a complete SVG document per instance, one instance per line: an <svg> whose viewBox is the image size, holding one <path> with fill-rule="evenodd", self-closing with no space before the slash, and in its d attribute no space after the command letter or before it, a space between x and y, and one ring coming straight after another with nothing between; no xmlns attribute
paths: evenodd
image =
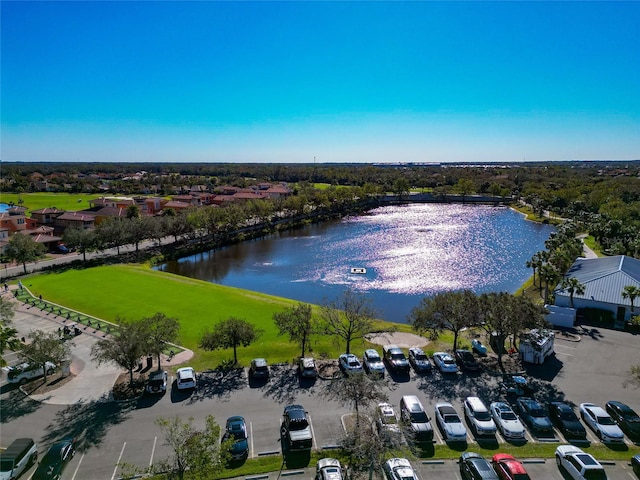
<svg viewBox="0 0 640 480"><path fill-rule="evenodd" d="M437 339L443 331L453 333L453 350L458 348L458 335L463 328L480 322L478 298L471 290L443 292L424 297L410 315L414 330L429 332Z"/></svg>

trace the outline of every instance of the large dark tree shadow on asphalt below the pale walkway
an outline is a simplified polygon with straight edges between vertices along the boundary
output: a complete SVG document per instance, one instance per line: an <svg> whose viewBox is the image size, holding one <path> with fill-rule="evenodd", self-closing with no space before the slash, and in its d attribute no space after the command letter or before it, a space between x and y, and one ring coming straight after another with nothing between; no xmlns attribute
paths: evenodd
<svg viewBox="0 0 640 480"><path fill-rule="evenodd" d="M109 428L126 421L134 409L134 402L92 401L69 405L45 428L43 441L48 444L61 438L74 438L78 450L86 451L99 446Z"/></svg>

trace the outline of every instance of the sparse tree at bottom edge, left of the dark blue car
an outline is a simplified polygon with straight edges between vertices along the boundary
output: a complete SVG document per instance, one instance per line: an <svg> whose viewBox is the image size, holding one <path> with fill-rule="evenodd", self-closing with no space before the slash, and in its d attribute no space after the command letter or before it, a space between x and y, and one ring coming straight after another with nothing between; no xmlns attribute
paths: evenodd
<svg viewBox="0 0 640 480"><path fill-rule="evenodd" d="M183 420L178 416L156 419L172 456L154 465L157 473L169 474L168 478L214 478L228 459L228 445L220 443L220 426L213 415L207 415L205 427L193 425L193 417Z"/></svg>

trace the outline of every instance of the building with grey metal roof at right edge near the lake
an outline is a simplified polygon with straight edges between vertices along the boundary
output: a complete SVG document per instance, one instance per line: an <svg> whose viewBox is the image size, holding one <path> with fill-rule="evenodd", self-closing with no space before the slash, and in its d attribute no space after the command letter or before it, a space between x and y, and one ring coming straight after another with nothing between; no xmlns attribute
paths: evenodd
<svg viewBox="0 0 640 480"><path fill-rule="evenodd" d="M631 299L624 298L624 287L633 285L640 288L640 260L626 255L602 258L579 258L567 271L565 278L575 278L584 285L584 293L573 294L573 306L598 308L610 311L616 321L616 327L622 328L632 315L640 314L640 298L634 301L631 312ZM555 305L571 306L570 292L561 284L554 290Z"/></svg>

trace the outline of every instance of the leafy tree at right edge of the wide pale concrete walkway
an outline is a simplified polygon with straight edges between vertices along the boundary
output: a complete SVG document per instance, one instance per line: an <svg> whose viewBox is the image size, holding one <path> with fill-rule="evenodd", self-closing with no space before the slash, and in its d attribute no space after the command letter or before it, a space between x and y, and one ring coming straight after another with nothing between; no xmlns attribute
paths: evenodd
<svg viewBox="0 0 640 480"><path fill-rule="evenodd" d="M91 358L98 364L114 362L129 372L133 385L133 370L147 352L147 332L142 321L117 318L118 331L98 340L91 347Z"/></svg>

